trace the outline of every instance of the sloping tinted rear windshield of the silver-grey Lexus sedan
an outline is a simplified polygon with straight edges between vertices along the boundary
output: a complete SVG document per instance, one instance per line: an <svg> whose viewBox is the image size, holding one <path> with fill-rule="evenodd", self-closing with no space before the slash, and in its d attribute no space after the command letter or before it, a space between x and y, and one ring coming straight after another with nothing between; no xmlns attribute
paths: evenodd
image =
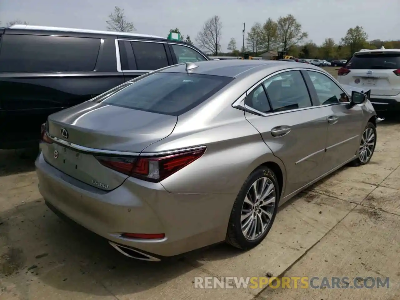
<svg viewBox="0 0 400 300"><path fill-rule="evenodd" d="M96 102L179 116L210 98L234 78L186 73L154 73L127 82Z"/></svg>

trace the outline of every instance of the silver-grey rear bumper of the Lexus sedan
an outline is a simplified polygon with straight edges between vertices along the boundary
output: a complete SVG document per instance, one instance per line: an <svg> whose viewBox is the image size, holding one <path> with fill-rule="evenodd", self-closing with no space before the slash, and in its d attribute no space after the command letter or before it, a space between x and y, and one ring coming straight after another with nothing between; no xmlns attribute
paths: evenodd
<svg viewBox="0 0 400 300"><path fill-rule="evenodd" d="M225 239L234 194L172 194L160 183L135 178L104 191L60 172L42 153L35 165L40 194L53 211L115 244L175 256ZM220 211L210 213L215 207ZM164 233L165 238L128 239L122 233Z"/></svg>

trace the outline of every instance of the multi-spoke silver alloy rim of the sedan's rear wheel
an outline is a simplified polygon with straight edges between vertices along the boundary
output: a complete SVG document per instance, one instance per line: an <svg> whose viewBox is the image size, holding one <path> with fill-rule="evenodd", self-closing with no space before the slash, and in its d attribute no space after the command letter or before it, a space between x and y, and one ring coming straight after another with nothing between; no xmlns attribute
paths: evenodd
<svg viewBox="0 0 400 300"><path fill-rule="evenodd" d="M256 240L267 230L276 204L276 192L267 177L257 179L247 191L242 206L240 223L247 240Z"/></svg>

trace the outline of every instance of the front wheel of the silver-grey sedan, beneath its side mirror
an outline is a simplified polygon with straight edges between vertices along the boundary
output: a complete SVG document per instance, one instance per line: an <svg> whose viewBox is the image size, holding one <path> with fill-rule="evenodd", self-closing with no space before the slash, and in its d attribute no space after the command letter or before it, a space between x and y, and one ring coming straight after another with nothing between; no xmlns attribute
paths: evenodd
<svg viewBox="0 0 400 300"><path fill-rule="evenodd" d="M376 128L374 124L368 122L362 133L358 157L352 161L354 166L362 166L370 162L376 146Z"/></svg>

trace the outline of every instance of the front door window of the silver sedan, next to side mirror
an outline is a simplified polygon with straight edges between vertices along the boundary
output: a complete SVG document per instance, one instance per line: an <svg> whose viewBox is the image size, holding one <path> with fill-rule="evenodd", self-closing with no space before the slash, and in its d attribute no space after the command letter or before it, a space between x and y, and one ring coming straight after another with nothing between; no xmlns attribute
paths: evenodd
<svg viewBox="0 0 400 300"><path fill-rule="evenodd" d="M316 105L325 105L339 102L348 102L348 96L340 89L337 84L328 76L318 73L307 71L310 75L312 84L317 92L318 101Z"/></svg>

